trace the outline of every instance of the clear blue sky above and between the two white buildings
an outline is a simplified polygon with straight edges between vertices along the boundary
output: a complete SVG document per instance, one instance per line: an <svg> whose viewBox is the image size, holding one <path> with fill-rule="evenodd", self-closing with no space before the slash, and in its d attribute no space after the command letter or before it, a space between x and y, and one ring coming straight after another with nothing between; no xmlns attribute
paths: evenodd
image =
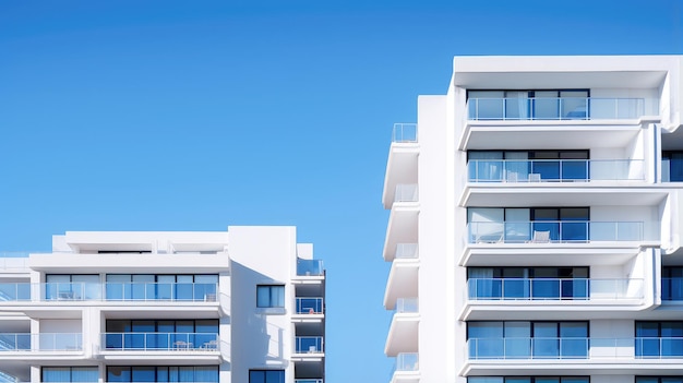
<svg viewBox="0 0 683 383"><path fill-rule="evenodd" d="M446 92L453 56L683 53L682 19L682 0L2 0L0 250L296 225L328 270L326 382L387 382L393 122Z"/></svg>

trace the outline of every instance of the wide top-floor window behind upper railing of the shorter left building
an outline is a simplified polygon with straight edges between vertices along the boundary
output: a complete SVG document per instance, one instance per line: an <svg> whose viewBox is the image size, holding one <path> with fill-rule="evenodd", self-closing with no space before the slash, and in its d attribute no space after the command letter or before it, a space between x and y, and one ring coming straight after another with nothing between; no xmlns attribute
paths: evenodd
<svg viewBox="0 0 683 383"><path fill-rule="evenodd" d="M215 301L215 274L107 274L108 300Z"/></svg>

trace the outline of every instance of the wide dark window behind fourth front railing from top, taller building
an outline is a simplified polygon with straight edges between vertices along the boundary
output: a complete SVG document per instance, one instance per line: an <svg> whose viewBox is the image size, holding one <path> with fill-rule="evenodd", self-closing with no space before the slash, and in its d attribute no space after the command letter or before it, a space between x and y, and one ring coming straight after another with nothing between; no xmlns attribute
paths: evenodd
<svg viewBox="0 0 683 383"><path fill-rule="evenodd" d="M587 299L588 267L468 267L470 299Z"/></svg>

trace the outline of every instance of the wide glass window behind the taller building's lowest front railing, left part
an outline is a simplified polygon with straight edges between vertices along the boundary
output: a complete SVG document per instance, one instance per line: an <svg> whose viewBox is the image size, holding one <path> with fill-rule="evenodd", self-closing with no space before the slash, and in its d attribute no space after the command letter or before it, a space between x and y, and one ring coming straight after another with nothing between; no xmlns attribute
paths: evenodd
<svg viewBox="0 0 683 383"><path fill-rule="evenodd" d="M468 322L472 359L564 359L588 356L587 322Z"/></svg>

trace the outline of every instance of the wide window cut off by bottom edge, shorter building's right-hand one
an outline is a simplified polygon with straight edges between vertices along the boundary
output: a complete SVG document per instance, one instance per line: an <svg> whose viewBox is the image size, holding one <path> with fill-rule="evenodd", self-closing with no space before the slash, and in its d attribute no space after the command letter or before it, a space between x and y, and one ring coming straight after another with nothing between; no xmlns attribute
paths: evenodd
<svg viewBox="0 0 683 383"><path fill-rule="evenodd" d="M213 383L218 382L218 366L109 366L107 382Z"/></svg>

